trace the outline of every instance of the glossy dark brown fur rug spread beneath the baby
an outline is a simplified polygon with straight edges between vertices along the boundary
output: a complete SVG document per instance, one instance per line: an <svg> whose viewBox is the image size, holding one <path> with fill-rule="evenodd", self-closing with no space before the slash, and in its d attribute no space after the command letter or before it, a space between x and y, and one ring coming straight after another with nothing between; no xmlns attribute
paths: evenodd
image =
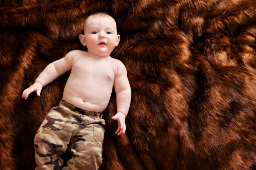
<svg viewBox="0 0 256 170"><path fill-rule="evenodd" d="M70 72L28 100L39 73L70 50L91 13L115 18L131 84L125 135L115 92L101 170L256 169L255 0L0 1L0 169L33 170L33 138ZM70 155L67 155L67 158Z"/></svg>

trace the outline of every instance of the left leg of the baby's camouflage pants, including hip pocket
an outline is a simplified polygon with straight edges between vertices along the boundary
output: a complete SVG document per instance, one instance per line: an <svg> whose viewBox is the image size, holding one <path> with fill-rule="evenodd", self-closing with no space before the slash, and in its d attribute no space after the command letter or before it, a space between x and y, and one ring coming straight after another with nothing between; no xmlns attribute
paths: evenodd
<svg viewBox="0 0 256 170"><path fill-rule="evenodd" d="M61 170L62 155L72 134L67 122L69 110L53 107L38 129L35 139L36 170Z"/></svg>

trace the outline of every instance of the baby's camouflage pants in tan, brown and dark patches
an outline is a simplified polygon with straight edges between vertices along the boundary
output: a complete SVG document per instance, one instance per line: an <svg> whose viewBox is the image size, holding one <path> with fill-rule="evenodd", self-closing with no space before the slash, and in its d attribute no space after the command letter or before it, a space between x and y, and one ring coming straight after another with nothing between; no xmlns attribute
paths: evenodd
<svg viewBox="0 0 256 170"><path fill-rule="evenodd" d="M82 110L61 100L36 133L36 170L98 169L102 162L104 128L101 112ZM62 155L66 150L72 153L72 158L64 166Z"/></svg>

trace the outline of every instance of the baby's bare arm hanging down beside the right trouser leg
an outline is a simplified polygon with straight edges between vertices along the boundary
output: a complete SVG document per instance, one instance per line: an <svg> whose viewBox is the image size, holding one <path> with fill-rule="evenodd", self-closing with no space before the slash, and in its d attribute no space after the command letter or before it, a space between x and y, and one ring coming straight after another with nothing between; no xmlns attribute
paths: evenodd
<svg viewBox="0 0 256 170"><path fill-rule="evenodd" d="M115 134L125 133L125 117L131 104L131 87L127 78L126 68L122 62L118 61L118 70L115 75L115 93L117 113L111 117L118 121L118 129Z"/></svg>

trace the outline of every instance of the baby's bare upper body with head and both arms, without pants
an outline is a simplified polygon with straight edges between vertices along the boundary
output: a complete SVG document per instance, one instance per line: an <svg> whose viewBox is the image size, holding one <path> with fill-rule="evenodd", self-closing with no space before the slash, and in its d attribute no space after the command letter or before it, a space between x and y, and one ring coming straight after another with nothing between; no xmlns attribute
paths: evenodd
<svg viewBox="0 0 256 170"><path fill-rule="evenodd" d="M79 39L83 45L90 42L87 45L88 52L74 50L50 63L35 83L23 91L22 97L27 99L33 91L40 96L42 87L71 70L62 100L83 110L102 112L108 105L114 86L117 113L112 119L118 121L115 134L124 134L125 117L131 103L131 87L123 63L110 57L120 40L120 35L116 34L115 20L108 16L89 17L84 27L84 35L80 35Z"/></svg>

